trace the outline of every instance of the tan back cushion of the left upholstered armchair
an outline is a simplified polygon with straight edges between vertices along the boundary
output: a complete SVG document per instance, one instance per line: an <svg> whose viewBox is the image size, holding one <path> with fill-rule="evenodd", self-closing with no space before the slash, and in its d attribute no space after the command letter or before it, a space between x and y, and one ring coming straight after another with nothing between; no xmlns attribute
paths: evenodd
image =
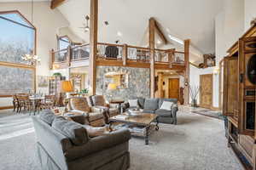
<svg viewBox="0 0 256 170"><path fill-rule="evenodd" d="M70 106L72 110L90 112L90 106L88 105L86 98L71 98Z"/></svg>

